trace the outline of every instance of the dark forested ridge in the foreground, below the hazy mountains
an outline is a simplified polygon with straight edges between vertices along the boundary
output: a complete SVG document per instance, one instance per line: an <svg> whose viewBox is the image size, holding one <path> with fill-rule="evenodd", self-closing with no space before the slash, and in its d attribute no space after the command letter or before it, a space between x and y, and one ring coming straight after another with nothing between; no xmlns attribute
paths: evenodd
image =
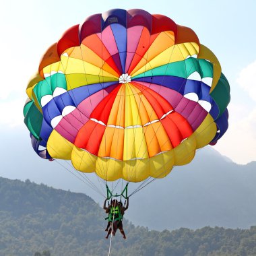
<svg viewBox="0 0 256 256"><path fill-rule="evenodd" d="M108 254L104 211L90 197L3 178L0 195L0 255L44 250L55 256ZM117 234L111 255L256 255L256 226L158 232L125 221L124 228L127 241Z"/></svg>

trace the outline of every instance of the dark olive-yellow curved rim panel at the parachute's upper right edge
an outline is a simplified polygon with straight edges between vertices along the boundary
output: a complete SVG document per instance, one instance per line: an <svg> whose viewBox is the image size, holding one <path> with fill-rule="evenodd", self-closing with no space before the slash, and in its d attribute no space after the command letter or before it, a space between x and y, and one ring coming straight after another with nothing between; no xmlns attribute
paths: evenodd
<svg viewBox="0 0 256 256"><path fill-rule="evenodd" d="M222 73L222 68L220 67L220 62L218 61L217 57L214 55L214 53L208 49L203 44L200 44L200 50L199 55L197 57L198 59L207 59L210 61L214 67L214 77L212 79L212 87L210 90L210 93L216 88L216 85L218 84L218 81L220 79L220 75Z"/></svg>

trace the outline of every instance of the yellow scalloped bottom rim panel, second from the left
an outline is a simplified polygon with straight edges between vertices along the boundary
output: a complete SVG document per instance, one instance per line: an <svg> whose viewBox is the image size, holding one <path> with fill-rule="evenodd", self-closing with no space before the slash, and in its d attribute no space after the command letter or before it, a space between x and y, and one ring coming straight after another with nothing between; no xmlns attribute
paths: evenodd
<svg viewBox="0 0 256 256"><path fill-rule="evenodd" d="M81 172L94 172L96 158L93 154L73 146L71 160L75 169Z"/></svg>

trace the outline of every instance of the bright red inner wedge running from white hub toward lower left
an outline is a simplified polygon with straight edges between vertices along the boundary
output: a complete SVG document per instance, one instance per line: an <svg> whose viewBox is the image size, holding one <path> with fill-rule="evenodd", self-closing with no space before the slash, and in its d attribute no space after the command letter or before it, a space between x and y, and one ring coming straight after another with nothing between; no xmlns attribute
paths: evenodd
<svg viewBox="0 0 256 256"><path fill-rule="evenodd" d="M117 93L119 92L120 85L117 86L108 96L106 96L92 111L90 118L102 121L104 124L108 123L108 117L113 107Z"/></svg>

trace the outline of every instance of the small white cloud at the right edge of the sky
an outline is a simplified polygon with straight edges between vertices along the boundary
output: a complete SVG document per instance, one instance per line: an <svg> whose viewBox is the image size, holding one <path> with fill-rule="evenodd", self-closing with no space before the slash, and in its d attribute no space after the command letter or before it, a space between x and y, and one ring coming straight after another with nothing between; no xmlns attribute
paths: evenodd
<svg viewBox="0 0 256 256"><path fill-rule="evenodd" d="M241 70L236 82L256 101L256 61Z"/></svg>

